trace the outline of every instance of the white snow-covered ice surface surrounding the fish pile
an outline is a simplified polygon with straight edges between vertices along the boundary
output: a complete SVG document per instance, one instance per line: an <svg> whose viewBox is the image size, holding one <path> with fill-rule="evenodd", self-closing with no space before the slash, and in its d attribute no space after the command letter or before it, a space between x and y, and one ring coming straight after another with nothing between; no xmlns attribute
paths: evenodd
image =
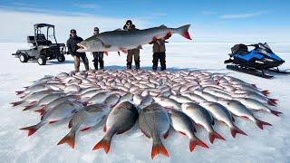
<svg viewBox="0 0 290 163"><path fill-rule="evenodd" d="M169 151L169 158L162 155L151 160L151 139L147 139L135 126L124 134L112 139L110 153L103 150L92 151L92 147L102 139L102 128L92 129L78 134L76 148L66 145L57 146L57 142L69 131L67 121L46 125L33 136L20 130L35 124L39 118L36 114L24 112L19 107L12 108L12 101L18 101L14 91L23 90L24 86L45 74L56 75L59 72L73 70L73 58L66 55L66 62L47 62L40 66L37 62L21 63L11 55L17 49L27 47L26 43L0 43L2 60L0 64L0 159L3 162L286 162L290 158L290 101L289 75L275 74L274 79L266 80L240 72L231 72L223 64L228 58L234 43L168 43L167 66L170 70L203 70L227 73L245 82L271 92L270 98L277 99L275 110L282 111L280 117L267 112L256 112L258 119L266 120L272 127L264 130L256 128L249 120L236 119L237 126L247 133L247 137L237 135L233 139L227 127L218 123L215 127L226 141L211 144L205 129L198 129L198 138L208 144L209 149L197 147L189 151L189 139L176 132L170 132L169 138L163 140ZM290 67L290 43L269 43L275 53L285 60L283 68ZM87 53L92 67L92 55ZM109 53L104 57L105 69L124 69L126 55ZM151 46L145 45L140 52L141 69L151 69ZM81 63L81 69L83 65Z"/></svg>

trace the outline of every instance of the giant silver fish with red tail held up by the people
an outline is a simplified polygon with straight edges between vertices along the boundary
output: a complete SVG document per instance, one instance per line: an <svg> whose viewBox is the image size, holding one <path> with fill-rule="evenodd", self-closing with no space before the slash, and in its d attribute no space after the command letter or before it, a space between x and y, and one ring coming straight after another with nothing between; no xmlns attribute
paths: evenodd
<svg viewBox="0 0 290 163"><path fill-rule="evenodd" d="M144 30L121 31L115 30L102 34L93 35L81 43L77 52L126 52L127 50L140 47L143 44L156 41L171 34L180 34L191 40L189 36L189 24L179 28L168 28L165 25Z"/></svg>

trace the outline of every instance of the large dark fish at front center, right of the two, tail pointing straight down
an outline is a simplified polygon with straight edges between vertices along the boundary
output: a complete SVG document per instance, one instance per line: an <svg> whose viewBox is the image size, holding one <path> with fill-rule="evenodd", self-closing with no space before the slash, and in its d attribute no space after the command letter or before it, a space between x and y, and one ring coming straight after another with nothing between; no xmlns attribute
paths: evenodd
<svg viewBox="0 0 290 163"><path fill-rule="evenodd" d="M147 138L153 139L151 158L162 154L169 157L168 151L164 148L160 137L167 138L169 134L169 115L158 103L152 103L140 110L138 119L140 130Z"/></svg>

